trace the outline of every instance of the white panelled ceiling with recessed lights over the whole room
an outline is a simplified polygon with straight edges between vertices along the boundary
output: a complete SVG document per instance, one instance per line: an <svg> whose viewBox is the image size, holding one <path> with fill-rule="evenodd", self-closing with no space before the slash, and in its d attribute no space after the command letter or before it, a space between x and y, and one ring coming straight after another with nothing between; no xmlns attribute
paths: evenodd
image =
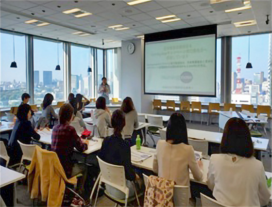
<svg viewBox="0 0 272 207"><path fill-rule="evenodd" d="M128 0L127 0L128 1ZM0 27L99 48L120 47L121 40L138 35L187 27L219 24L218 36L272 31L272 1L251 0L252 9L225 13L215 11L210 0L152 0L129 6L125 0L1 0ZM59 8L60 7L60 8ZM80 8L93 15L76 18L62 12ZM155 17L176 15L181 21L161 23ZM270 15L269 25L265 23ZM50 25L37 27L24 21L37 19ZM237 29L233 22L256 19L257 25ZM114 31L108 26L122 24L129 30ZM221 25L222 24L222 25ZM94 33L80 37L72 32ZM102 39L106 42L102 46ZM111 41L118 41L112 43Z"/></svg>

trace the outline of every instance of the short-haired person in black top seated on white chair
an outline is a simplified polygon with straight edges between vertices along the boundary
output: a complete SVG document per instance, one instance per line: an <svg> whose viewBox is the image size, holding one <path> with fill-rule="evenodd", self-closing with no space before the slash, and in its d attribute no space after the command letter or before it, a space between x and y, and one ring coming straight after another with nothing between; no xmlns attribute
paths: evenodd
<svg viewBox="0 0 272 207"><path fill-rule="evenodd" d="M111 119L114 134L103 140L99 157L110 164L122 165L125 170L126 185L129 188L129 196L135 194L133 183L139 176L136 175L131 164L131 152L128 143L122 138L122 129L126 124L125 116L121 110L116 110ZM136 185L137 186L137 185ZM106 191L116 199L124 199L125 194L116 188L106 185Z"/></svg>

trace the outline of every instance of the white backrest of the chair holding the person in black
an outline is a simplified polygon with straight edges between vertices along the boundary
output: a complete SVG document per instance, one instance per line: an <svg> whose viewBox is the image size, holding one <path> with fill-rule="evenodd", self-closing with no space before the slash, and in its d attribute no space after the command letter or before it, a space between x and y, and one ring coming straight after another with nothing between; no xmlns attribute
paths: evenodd
<svg viewBox="0 0 272 207"><path fill-rule="evenodd" d="M113 165L103 161L98 156L96 157L101 171L101 181L126 193L128 188L124 166Z"/></svg>

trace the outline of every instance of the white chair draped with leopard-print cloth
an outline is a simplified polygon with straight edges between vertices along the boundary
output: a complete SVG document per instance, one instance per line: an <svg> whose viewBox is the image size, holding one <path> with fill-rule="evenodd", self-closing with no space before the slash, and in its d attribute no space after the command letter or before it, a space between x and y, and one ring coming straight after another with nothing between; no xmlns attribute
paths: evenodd
<svg viewBox="0 0 272 207"><path fill-rule="evenodd" d="M143 174L144 184L147 187L148 176ZM189 187L188 186L174 186L174 205L176 207L187 207L189 205Z"/></svg>

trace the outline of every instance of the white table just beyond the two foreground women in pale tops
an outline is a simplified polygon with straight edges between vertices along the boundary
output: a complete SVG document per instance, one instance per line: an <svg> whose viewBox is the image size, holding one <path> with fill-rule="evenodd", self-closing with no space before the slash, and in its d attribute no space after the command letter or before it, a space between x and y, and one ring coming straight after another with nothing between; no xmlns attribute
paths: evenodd
<svg viewBox="0 0 272 207"><path fill-rule="evenodd" d="M166 127L162 130L166 131ZM204 131L198 129L187 128L188 138L198 139L198 140L206 140L210 143L221 143L222 135L221 132L213 132L213 131ZM254 142L254 148L257 150L266 151L269 139L262 139L252 137L252 141Z"/></svg>

